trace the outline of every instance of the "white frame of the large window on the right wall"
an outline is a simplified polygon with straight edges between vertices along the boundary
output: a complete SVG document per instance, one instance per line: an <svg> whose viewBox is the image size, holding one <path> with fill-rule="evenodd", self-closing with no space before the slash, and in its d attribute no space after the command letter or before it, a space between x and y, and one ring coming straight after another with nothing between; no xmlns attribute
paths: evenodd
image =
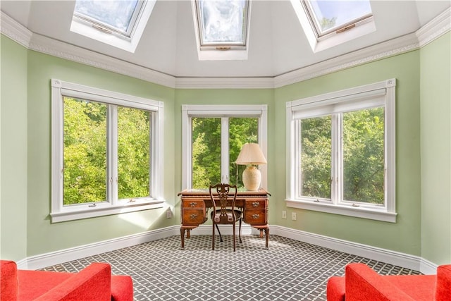
<svg viewBox="0 0 451 301"><path fill-rule="evenodd" d="M395 87L396 79L384 80L370 85L354 87L338 92L331 92L315 97L298 99L286 104L287 116L287 187L286 205L287 207L321 211L332 214L342 214L346 216L356 216L364 219L375 219L378 221L396 222L395 212ZM354 204L352 202L341 202L340 191L337 185L332 185L330 200L322 200L309 197L298 197L299 180L297 179L299 163L299 127L297 120L308 118L309 116L319 116L319 113L333 111L340 107L350 109L365 109L383 104L385 107L385 128L384 128L384 152L385 152L385 178L384 178L384 204ZM333 123L338 121L334 121ZM332 139L340 133L334 133L333 126ZM333 151L333 156L337 156ZM340 162L340 158L337 158ZM333 181L340 181L341 170L333 170Z"/></svg>

